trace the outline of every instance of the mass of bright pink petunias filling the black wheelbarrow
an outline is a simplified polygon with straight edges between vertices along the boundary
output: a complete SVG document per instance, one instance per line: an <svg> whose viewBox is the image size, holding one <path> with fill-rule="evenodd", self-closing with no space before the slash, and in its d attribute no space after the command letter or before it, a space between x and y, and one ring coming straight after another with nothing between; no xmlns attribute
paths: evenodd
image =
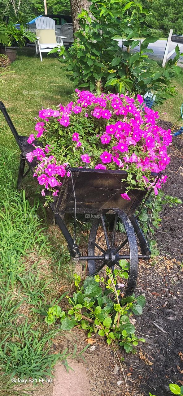
<svg viewBox="0 0 183 396"><path fill-rule="evenodd" d="M34 150L27 154L27 160L31 162L36 158L39 162L34 176L37 176L38 183L44 185L46 190L51 190L53 195L56 195L55 191L58 190L52 188L59 186L60 177L66 174L68 153L67 158L62 156L62 161L65 162L61 164L58 154L57 158L54 156L53 147L50 148L47 144L45 148L41 148L33 143L40 137L42 140L43 136L47 143L51 143L46 137L53 122L54 128L55 122L58 125L55 132L57 153L59 135L63 134L63 137L67 136L67 139L70 139L71 166L89 166L103 170L121 169L133 175L135 166L138 174L141 174L140 180L137 180L139 188L154 187L155 194L158 192L161 185L156 183L155 187L149 177L151 172L164 171L169 164L167 147L172 142L172 136L170 129L166 131L158 126L158 112L146 107L141 95L137 95L137 98L114 93L102 93L97 96L90 91L76 89L76 98L73 101L66 106L59 105L59 110L42 109L39 117L44 121L38 120L36 123L36 138L33 133L29 136L28 143L32 144ZM95 140L88 136L87 129L82 129L86 119L94 125ZM53 155L50 155L50 150ZM162 181L165 182L166 177L162 178ZM129 200L127 192L121 196Z"/></svg>

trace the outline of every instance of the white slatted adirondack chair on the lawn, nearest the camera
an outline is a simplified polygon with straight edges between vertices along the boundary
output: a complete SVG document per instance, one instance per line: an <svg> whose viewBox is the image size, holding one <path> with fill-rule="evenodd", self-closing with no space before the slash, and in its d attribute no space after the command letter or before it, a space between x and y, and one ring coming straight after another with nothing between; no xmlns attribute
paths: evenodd
<svg viewBox="0 0 183 396"><path fill-rule="evenodd" d="M50 52L50 49L63 46L65 36L55 35L55 21L48 17L36 19L36 54L40 54L42 62L42 52ZM58 50L59 51L59 50Z"/></svg>

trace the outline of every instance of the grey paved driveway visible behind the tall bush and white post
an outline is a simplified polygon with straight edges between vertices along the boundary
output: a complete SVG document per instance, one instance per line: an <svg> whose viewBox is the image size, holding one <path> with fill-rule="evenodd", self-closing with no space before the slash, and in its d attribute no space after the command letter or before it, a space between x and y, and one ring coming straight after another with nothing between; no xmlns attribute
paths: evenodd
<svg viewBox="0 0 183 396"><path fill-rule="evenodd" d="M118 40L119 42L119 46L122 47L122 40ZM169 51L172 51L173 48L175 48L177 45L177 43L171 43L170 47L169 47ZM179 48L180 48L180 52L183 53L183 44L178 44ZM166 47L166 40L157 40L155 43L151 43L149 44L148 48L152 48L154 53L153 54L149 54L153 59L158 59L158 60L163 60L163 55L164 55L164 50ZM139 51L139 46L135 47L134 52ZM171 58L173 59L175 57L175 53L171 56ZM177 62L177 65L183 67L183 56L180 58L180 60Z"/></svg>

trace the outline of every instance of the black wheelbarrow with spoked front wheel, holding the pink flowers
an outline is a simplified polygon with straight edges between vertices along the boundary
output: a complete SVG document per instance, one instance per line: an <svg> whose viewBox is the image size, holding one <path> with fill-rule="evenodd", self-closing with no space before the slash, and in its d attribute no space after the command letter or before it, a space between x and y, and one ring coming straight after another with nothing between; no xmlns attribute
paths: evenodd
<svg viewBox="0 0 183 396"><path fill-rule="evenodd" d="M17 188L21 189L23 178L30 170L34 173L36 167L35 160L31 163L26 160L27 152L31 152L34 148L27 143L28 137L18 135L2 102L0 102L0 110L21 150L17 180ZM25 162L29 166L26 173L24 173ZM115 266L121 268L120 260L128 261L128 281L122 291L124 297L132 295L137 281L138 261L139 259L148 260L151 257L148 235L155 197L146 237L139 226L138 217L153 188L149 191L134 189L129 194L131 199L127 201L120 196L128 186L126 171L69 167L67 167L67 171L70 172L70 177L62 178L63 184L60 187L59 195L54 197L54 202L50 203L50 207L55 221L67 241L71 257L77 261L87 261L90 275L97 274L105 266L114 272ZM151 173L151 179L155 183L159 182L161 177L160 173ZM67 213L74 215L73 236L64 221ZM85 215L92 221L86 256L80 253L81 249L76 244L76 216L78 214ZM124 231L120 234L116 232L118 221ZM97 239L98 231L102 235L102 246Z"/></svg>

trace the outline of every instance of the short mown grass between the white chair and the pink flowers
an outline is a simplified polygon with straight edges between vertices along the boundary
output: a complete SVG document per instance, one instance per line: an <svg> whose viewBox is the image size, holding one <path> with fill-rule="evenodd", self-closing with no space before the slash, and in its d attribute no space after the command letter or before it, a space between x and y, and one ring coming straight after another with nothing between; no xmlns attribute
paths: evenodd
<svg viewBox="0 0 183 396"><path fill-rule="evenodd" d="M26 55L27 52L27 55ZM34 52L24 49L18 52L11 64L14 73L4 76L0 82L0 100L7 110L20 135L34 131L38 110L66 103L72 93L72 83L61 70L61 64L54 57L44 57L41 62ZM15 145L9 128L0 114L1 142L7 140Z"/></svg>

